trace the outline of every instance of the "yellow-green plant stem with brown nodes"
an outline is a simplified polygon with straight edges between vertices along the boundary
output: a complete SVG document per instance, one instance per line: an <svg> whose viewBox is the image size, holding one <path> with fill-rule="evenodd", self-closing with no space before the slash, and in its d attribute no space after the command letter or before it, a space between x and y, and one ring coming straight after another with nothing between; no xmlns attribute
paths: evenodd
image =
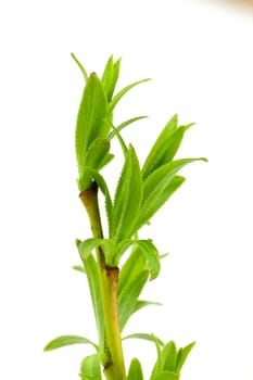
<svg viewBox="0 0 253 380"><path fill-rule="evenodd" d="M87 191L83 191L79 197L89 216L93 238L103 238L97 183L93 182L91 188ZM99 266L100 294L103 304L107 349L104 375L107 380L126 380L117 306L119 270L117 267L106 266L101 246L96 250L96 254Z"/></svg>

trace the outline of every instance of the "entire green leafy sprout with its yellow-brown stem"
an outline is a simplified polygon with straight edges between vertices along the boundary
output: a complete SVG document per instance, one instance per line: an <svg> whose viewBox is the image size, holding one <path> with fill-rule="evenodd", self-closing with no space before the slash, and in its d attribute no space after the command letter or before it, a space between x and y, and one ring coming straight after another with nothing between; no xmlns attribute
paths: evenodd
<svg viewBox="0 0 253 380"><path fill-rule="evenodd" d="M192 125L179 126L175 115L162 129L141 166L136 149L126 144L121 132L144 116L132 117L115 126L113 114L130 89L149 79L132 83L114 94L121 60L114 62L111 56L99 77L96 73L88 75L72 55L85 78L75 144L79 198L91 227L90 237L76 240L81 265L74 269L81 271L88 282L98 341L92 342L81 335L62 335L49 342L45 351L89 344L91 354L80 365L81 380L101 380L103 377L107 380L142 380L142 366L138 358L132 358L129 368L126 368L123 341L143 339L156 347L150 380L179 380L182 365L194 343L178 350L174 341L164 343L155 334L146 332L124 335L124 329L132 314L155 304L143 301L140 295L148 281L157 278L161 270L162 256L151 239L139 238L139 230L184 183L185 178L178 175L179 170L187 164L206 160L175 160L185 132ZM101 174L112 160L116 160L111 153L113 139L118 140L124 154L114 194L110 190L110 180ZM99 192L103 194L104 202L99 199ZM105 220L101 217L102 207ZM104 236L105 230L107 236Z"/></svg>

